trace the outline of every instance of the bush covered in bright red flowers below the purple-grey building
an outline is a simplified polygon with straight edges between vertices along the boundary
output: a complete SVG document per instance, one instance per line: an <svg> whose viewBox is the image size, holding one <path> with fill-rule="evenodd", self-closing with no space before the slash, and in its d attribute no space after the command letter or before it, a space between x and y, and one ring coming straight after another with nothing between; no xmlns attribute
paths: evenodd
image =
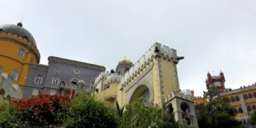
<svg viewBox="0 0 256 128"><path fill-rule="evenodd" d="M61 124L67 113L68 96L39 95L12 101L21 122L30 126Z"/></svg>

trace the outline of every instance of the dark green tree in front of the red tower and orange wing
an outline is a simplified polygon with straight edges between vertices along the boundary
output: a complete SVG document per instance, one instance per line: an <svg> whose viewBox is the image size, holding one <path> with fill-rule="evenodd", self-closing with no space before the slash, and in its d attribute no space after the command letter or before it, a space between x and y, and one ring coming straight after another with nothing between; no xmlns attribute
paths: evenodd
<svg viewBox="0 0 256 128"><path fill-rule="evenodd" d="M238 128L243 127L240 121L235 119L236 108L232 108L225 97L218 96L209 90L207 97L210 102L195 106L198 125L201 128Z"/></svg>

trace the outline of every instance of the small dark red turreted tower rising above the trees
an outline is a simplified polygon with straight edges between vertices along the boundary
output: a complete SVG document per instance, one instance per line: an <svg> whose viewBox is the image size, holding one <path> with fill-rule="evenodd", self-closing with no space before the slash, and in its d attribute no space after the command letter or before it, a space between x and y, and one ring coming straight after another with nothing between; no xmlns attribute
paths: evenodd
<svg viewBox="0 0 256 128"><path fill-rule="evenodd" d="M210 90L212 87L218 88L218 92L225 91L225 77L224 73L220 72L218 76L212 76L210 73L207 73L207 90Z"/></svg>

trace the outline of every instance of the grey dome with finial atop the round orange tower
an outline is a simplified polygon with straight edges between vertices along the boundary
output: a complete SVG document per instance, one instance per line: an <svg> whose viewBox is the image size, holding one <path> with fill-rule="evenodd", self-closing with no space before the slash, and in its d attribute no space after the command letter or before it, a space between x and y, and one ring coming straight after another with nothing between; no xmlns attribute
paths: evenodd
<svg viewBox="0 0 256 128"><path fill-rule="evenodd" d="M22 24L19 22L17 25L0 25L0 32L9 32L20 37L26 38L28 42L31 42L35 46L37 46L35 39L33 38L32 34L28 32Z"/></svg>

